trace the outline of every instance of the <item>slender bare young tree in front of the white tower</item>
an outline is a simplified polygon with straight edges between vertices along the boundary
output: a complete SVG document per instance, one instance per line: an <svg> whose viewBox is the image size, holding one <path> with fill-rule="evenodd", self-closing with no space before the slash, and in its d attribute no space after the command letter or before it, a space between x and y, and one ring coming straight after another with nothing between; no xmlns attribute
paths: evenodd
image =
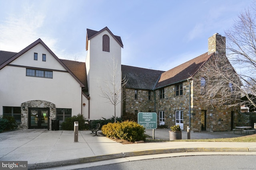
<svg viewBox="0 0 256 170"><path fill-rule="evenodd" d="M118 62L115 63L114 57L112 58L113 64L109 63L108 68L112 68L109 75L109 80L105 79L104 83L106 87L99 86L103 98L108 99L108 102L114 106L114 122L116 123L116 105L122 102L120 100L122 94L122 88L126 85L126 78L122 78L122 72L118 70ZM119 76L120 75L120 76ZM117 80L121 77L120 80Z"/></svg>

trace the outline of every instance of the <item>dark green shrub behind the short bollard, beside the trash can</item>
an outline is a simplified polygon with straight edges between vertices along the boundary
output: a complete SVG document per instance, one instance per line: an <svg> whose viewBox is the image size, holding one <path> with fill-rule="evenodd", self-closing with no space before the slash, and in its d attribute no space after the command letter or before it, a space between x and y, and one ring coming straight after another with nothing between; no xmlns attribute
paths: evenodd
<svg viewBox="0 0 256 170"><path fill-rule="evenodd" d="M60 124L60 127L62 130L74 130L74 121L78 121L78 130L84 130L86 129L84 119L84 115L74 115L66 118L65 121Z"/></svg>

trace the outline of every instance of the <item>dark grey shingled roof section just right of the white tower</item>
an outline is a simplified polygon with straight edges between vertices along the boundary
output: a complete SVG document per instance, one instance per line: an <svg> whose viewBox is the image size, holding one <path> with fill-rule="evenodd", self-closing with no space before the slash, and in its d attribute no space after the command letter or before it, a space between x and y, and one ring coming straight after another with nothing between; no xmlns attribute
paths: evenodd
<svg viewBox="0 0 256 170"><path fill-rule="evenodd" d="M153 90L164 71L122 65L122 76L128 80L126 88Z"/></svg>

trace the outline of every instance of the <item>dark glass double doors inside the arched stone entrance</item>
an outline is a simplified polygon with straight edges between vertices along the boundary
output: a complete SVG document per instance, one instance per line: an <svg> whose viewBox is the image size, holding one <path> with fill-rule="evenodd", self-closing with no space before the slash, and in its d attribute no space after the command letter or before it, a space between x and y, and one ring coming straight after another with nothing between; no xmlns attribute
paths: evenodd
<svg viewBox="0 0 256 170"><path fill-rule="evenodd" d="M28 129L47 129L49 108L28 108Z"/></svg>

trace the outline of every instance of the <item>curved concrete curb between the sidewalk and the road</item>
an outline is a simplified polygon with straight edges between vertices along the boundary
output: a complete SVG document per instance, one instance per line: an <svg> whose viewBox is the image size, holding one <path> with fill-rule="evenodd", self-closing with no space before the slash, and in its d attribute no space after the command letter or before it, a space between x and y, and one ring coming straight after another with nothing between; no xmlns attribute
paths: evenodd
<svg viewBox="0 0 256 170"><path fill-rule="evenodd" d="M110 160L117 158L126 158L130 156L143 156L150 154L178 153L178 152L256 152L256 148L177 148L177 149L152 149L134 152L121 152L114 154L105 154L98 156L89 156L84 158L75 158L69 160L58 160L52 162L40 162L28 164L28 170L51 168L56 166L67 166L73 164L82 164L96 162L101 160Z"/></svg>

